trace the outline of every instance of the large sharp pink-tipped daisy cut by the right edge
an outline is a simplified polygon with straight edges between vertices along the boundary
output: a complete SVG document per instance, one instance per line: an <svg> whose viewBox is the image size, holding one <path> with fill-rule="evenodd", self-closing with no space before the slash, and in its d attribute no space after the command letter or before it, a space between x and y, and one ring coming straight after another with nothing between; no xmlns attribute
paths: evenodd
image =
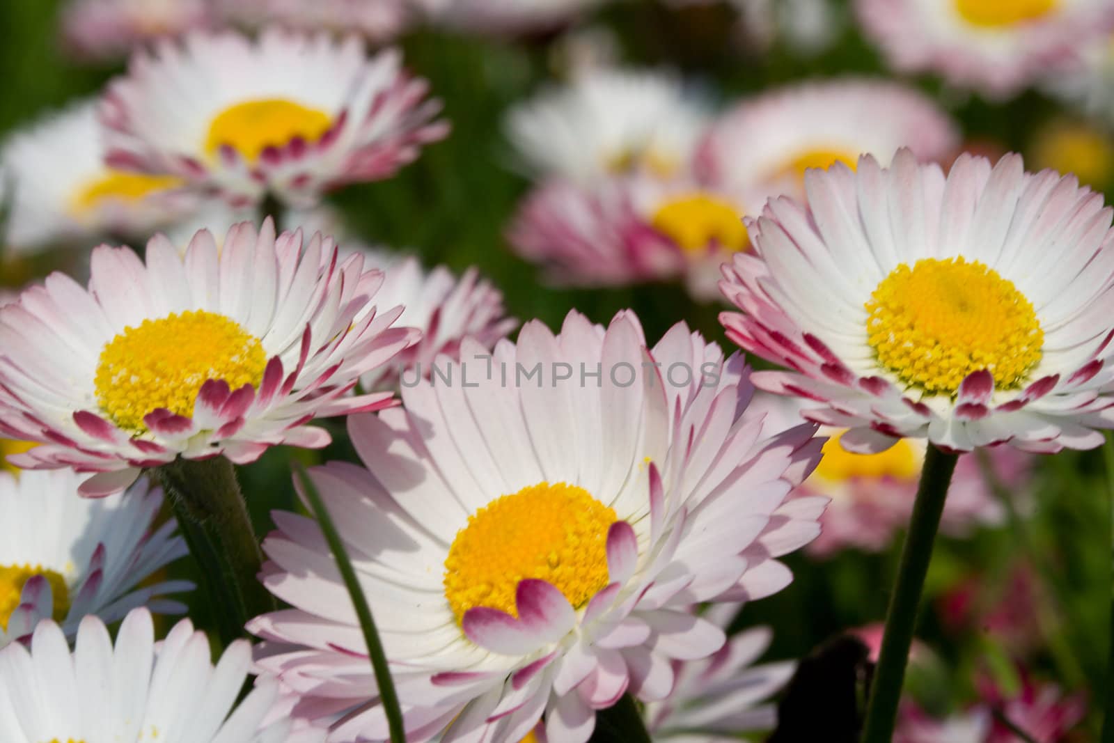
<svg viewBox="0 0 1114 743"><path fill-rule="evenodd" d="M860 453L902 437L945 451L1087 449L1114 427L1114 250L1103 197L1052 170L909 150L805 175L721 286L727 335L792 371L754 383L805 398ZM818 291L823 287L823 291Z"/></svg>

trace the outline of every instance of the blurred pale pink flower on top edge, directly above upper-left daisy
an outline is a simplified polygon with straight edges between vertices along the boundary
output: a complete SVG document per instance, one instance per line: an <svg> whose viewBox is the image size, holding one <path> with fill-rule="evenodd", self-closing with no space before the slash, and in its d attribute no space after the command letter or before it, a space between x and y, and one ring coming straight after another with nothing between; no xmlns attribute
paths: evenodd
<svg viewBox="0 0 1114 743"><path fill-rule="evenodd" d="M251 26L277 23L306 31L359 33L369 41L398 36L414 13L409 0L217 0L225 18Z"/></svg>

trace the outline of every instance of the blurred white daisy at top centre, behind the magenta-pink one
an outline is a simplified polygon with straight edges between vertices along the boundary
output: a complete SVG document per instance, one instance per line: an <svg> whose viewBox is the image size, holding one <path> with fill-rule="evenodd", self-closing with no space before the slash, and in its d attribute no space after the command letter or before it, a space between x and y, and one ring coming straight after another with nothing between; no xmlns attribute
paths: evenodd
<svg viewBox="0 0 1114 743"><path fill-rule="evenodd" d="M512 108L506 128L537 175L592 184L683 173L706 119L674 75L590 68Z"/></svg>

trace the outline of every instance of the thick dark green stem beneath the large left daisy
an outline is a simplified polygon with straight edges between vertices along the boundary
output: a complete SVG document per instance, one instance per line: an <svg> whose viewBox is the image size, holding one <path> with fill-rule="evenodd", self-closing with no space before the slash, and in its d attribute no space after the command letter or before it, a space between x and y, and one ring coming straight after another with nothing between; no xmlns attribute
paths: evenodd
<svg viewBox="0 0 1114 743"><path fill-rule="evenodd" d="M224 457L179 457L158 471L183 532L192 535L187 544L205 574L203 580L222 598L216 610L226 612L242 635L247 620L274 612L275 602L258 579L263 553L232 462Z"/></svg>

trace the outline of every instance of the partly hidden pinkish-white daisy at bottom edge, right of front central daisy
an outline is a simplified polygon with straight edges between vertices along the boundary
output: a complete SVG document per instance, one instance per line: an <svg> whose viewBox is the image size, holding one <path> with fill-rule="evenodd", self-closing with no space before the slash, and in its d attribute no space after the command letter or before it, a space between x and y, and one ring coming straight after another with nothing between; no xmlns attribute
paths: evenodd
<svg viewBox="0 0 1114 743"><path fill-rule="evenodd" d="M704 618L726 629L739 608L720 604ZM797 664L754 665L772 641L769 627L755 627L730 637L707 658L675 664L673 692L661 702L647 704L643 713L653 739L730 743L751 740L740 734L773 730L778 710L769 700L789 683Z"/></svg>

